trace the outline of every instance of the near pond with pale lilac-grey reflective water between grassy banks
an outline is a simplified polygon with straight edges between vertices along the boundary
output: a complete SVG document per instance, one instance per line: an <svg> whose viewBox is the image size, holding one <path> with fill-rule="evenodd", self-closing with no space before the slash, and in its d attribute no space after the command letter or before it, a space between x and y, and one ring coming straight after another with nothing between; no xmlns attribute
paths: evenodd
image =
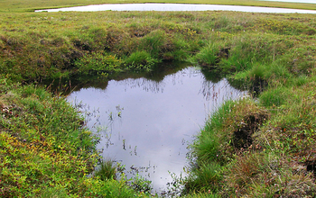
<svg viewBox="0 0 316 198"><path fill-rule="evenodd" d="M204 73L206 74L206 73ZM88 115L90 130L102 136L103 157L139 174L156 192L187 165L188 145L211 112L238 91L228 80L210 79L197 67L173 69L150 77L111 80L72 92L68 100Z"/></svg>

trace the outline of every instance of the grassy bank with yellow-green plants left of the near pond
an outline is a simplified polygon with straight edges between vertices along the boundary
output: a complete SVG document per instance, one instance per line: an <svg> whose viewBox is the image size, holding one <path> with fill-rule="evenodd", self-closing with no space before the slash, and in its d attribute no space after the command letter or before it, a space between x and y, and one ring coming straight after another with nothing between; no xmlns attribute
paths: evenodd
<svg viewBox="0 0 316 198"><path fill-rule="evenodd" d="M114 172L89 175L98 163L98 137L64 98L5 78L0 94L1 197L142 196Z"/></svg>

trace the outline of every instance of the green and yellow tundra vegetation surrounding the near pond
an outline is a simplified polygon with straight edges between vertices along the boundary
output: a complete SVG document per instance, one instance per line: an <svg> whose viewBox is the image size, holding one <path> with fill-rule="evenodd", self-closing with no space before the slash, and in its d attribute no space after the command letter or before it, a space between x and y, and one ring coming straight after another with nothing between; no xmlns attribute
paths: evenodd
<svg viewBox="0 0 316 198"><path fill-rule="evenodd" d="M315 28L313 14L1 13L0 196L155 196L99 159L98 134L50 83L186 61L251 95L209 116L181 195L314 197Z"/></svg>

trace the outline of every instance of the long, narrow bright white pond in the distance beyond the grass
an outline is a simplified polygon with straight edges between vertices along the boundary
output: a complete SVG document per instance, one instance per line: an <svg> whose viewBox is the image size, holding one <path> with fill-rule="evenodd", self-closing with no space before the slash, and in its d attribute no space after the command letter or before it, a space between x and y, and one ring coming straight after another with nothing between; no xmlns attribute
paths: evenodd
<svg viewBox="0 0 316 198"><path fill-rule="evenodd" d="M87 6L67 7L59 9L37 10L35 12L67 12L67 11L239 11L252 13L283 14L316 14L315 10L299 10L274 7L255 7L219 4L91 4Z"/></svg>

